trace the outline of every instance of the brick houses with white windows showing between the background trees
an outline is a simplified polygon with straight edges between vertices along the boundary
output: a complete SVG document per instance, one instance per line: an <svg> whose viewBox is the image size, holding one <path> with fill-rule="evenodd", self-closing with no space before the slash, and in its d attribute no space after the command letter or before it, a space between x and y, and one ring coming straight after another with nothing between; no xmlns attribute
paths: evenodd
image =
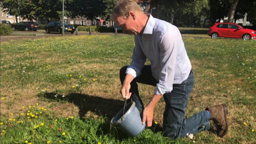
<svg viewBox="0 0 256 144"><path fill-rule="evenodd" d="M149 9L150 9L150 1L148 2L144 2L143 0L136 0L137 3L140 5L141 9L144 11L144 13L148 13ZM1 13L1 21L2 20L6 20L6 21L10 21L11 23L16 23L16 18L15 16L9 15L8 13L4 13L4 9L0 8L0 13ZM17 17L18 22L20 21L28 21L27 19L22 19L22 17ZM100 26L107 26L107 27L111 27L114 25L114 21L106 21L104 18L102 17L97 17L96 19L98 20L88 20L85 17L78 17L78 18L69 18L69 17L64 17L64 21L67 24L76 24L76 25L84 25L84 26L92 26L92 25L100 25ZM35 22L38 22L40 24L46 24L47 21L46 20L34 20ZM62 19L60 19L60 21L62 21Z"/></svg>

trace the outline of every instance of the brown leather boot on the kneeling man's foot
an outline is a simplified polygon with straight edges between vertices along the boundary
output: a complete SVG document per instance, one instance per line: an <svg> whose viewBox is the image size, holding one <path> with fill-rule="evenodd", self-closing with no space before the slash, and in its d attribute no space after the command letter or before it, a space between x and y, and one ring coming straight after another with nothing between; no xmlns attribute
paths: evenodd
<svg viewBox="0 0 256 144"><path fill-rule="evenodd" d="M217 136L223 137L228 131L228 108L225 104L208 107L205 110L210 112L210 120L213 120L217 127Z"/></svg>

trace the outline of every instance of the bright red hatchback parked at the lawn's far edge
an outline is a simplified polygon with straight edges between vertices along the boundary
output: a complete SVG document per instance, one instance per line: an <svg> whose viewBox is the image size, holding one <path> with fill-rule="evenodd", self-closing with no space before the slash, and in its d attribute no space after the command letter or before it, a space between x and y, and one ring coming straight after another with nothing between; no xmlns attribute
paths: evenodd
<svg viewBox="0 0 256 144"><path fill-rule="evenodd" d="M215 23L209 27L208 35L212 38L228 37L244 40L256 39L256 31L245 29L235 23Z"/></svg>

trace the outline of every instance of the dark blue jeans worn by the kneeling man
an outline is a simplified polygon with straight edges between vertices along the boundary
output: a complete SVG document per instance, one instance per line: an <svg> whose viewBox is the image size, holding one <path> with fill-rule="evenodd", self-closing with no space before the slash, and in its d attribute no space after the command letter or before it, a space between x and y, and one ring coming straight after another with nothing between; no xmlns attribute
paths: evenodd
<svg viewBox="0 0 256 144"><path fill-rule="evenodd" d="M123 84L128 66L120 69L120 80ZM142 100L139 96L137 82L156 86L158 81L152 76L151 66L145 65L141 70L141 75L131 82L132 92L130 101L134 101L139 111L144 109ZM189 77L181 84L173 84L173 90L163 95L165 100L165 111L163 118L164 136L169 138L184 137L187 134L194 134L210 128L209 116L207 111L201 111L189 118L184 119L186 113L189 93L194 85L194 75L191 71Z"/></svg>

